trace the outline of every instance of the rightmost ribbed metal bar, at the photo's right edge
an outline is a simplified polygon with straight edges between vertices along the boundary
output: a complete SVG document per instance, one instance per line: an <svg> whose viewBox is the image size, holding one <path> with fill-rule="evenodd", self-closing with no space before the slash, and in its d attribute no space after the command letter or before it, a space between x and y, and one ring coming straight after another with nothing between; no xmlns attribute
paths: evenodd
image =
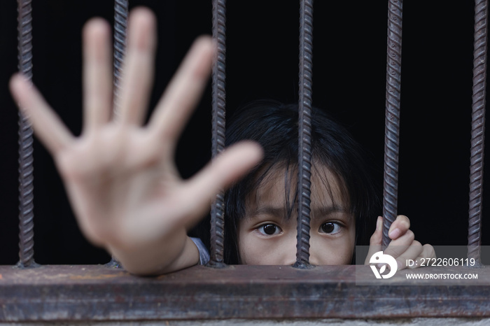
<svg viewBox="0 0 490 326"><path fill-rule="evenodd" d="M470 149L470 208L468 217L468 258L478 266L482 236L483 157L485 129L486 50L488 24L486 0L475 1L475 40L473 49L473 87Z"/></svg>

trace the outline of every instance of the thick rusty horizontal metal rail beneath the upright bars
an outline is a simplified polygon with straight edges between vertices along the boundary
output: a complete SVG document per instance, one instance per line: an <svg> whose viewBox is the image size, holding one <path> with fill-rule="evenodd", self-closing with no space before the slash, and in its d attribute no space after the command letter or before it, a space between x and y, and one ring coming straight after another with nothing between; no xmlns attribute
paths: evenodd
<svg viewBox="0 0 490 326"><path fill-rule="evenodd" d="M478 270L478 279L472 280L475 286L461 281L421 285L420 280L405 277L407 270L398 272L402 286L359 286L356 269L373 277L370 267L352 265L308 270L195 266L158 278L97 265L29 270L0 266L0 323L490 317L489 269ZM441 272L437 267L424 269ZM443 272L468 273L468 269L447 267Z"/></svg>

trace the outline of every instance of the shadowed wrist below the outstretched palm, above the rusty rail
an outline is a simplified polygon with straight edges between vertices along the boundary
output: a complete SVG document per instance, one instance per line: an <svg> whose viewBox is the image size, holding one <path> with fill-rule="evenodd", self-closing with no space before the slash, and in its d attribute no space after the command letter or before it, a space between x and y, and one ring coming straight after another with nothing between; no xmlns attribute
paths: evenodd
<svg viewBox="0 0 490 326"><path fill-rule="evenodd" d="M167 274L199 263L199 251L185 231L134 248L107 247L127 271L141 276Z"/></svg>

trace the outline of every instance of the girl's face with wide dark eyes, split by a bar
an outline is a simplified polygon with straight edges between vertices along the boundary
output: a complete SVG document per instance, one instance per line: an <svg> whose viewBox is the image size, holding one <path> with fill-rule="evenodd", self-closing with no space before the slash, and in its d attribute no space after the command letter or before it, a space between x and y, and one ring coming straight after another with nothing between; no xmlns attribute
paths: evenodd
<svg viewBox="0 0 490 326"><path fill-rule="evenodd" d="M312 170L309 262L350 264L356 238L355 219L332 173L318 165ZM246 201L246 214L238 229L242 264L286 265L296 260L297 208L294 206L290 218L286 218L285 175L285 169L272 169ZM290 183L295 184L296 180ZM291 192L295 188L290 187ZM291 193L291 203L293 198Z"/></svg>

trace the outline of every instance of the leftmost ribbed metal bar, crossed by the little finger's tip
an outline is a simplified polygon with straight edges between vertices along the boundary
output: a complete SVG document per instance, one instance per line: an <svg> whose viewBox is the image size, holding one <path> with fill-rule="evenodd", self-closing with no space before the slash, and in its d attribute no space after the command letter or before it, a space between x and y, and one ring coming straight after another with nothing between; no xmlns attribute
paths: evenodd
<svg viewBox="0 0 490 326"><path fill-rule="evenodd" d="M32 80L31 0L18 0L18 69ZM19 111L19 262L18 267L35 267L34 262L34 147L33 131Z"/></svg>

